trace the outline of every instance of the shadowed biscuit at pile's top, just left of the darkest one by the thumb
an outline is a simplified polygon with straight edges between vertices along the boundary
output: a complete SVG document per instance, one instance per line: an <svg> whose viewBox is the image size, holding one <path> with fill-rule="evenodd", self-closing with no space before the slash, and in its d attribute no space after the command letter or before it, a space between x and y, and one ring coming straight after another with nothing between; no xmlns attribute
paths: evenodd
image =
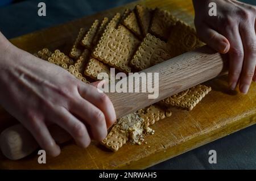
<svg viewBox="0 0 256 181"><path fill-rule="evenodd" d="M168 11L156 9L150 26L150 33L156 37L167 41L170 36L171 29L175 26L177 19Z"/></svg>

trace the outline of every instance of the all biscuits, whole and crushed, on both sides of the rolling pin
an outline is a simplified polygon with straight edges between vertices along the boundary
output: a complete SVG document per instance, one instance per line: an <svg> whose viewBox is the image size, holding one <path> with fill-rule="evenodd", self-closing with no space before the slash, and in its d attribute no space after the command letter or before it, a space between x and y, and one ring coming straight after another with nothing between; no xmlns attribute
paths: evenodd
<svg viewBox="0 0 256 181"><path fill-rule="evenodd" d="M112 19L95 20L88 31L81 28L67 55L44 48L35 56L59 65L81 81L97 81L99 73L110 68L135 73L201 47L196 32L170 12L141 5ZM91 81L88 81L91 80ZM210 91L198 85L117 120L101 143L117 151L127 141L142 144L144 136L154 134L156 121L171 116L171 107L191 111Z"/></svg>

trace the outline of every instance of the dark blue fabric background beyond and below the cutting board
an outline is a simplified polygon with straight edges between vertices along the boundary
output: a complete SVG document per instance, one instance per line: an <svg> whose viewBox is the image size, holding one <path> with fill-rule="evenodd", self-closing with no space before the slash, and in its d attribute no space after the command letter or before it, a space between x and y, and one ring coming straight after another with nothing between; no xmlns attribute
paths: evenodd
<svg viewBox="0 0 256 181"><path fill-rule="evenodd" d="M46 2L46 17L37 16L39 2ZM0 30L10 39L129 2L131 0L24 1L0 7ZM244 2L256 5L254 0ZM0 5L1 3L3 0L0 0ZM256 169L255 136L256 125L184 153L150 169ZM209 150L217 151L217 164L209 164Z"/></svg>

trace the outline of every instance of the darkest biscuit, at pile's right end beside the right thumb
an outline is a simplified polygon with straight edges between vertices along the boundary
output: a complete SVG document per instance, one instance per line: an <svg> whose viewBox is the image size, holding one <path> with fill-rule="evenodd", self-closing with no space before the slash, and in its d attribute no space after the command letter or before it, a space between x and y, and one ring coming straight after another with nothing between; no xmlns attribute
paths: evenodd
<svg viewBox="0 0 256 181"><path fill-rule="evenodd" d="M178 21L172 28L168 44L171 47L176 47L176 55L189 52L203 46L203 43L196 36L195 29L181 21Z"/></svg>

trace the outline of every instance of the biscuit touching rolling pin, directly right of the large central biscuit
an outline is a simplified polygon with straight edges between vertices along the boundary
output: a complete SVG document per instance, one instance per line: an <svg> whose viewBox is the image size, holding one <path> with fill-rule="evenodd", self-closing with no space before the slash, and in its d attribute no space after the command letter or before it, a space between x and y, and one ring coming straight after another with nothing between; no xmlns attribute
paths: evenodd
<svg viewBox="0 0 256 181"><path fill-rule="evenodd" d="M131 65L138 70L144 70L174 56L174 49L168 50L167 43L148 33L135 52Z"/></svg>

